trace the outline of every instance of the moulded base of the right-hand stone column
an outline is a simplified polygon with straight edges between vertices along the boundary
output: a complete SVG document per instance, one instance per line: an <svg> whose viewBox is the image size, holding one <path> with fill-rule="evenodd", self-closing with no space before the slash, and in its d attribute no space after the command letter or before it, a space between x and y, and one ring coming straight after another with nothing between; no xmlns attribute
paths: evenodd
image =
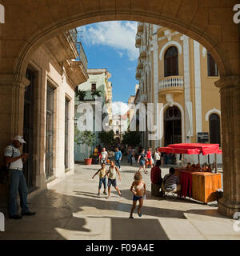
<svg viewBox="0 0 240 256"><path fill-rule="evenodd" d="M218 213L233 218L234 214L240 212L240 202L233 202L224 198L219 199Z"/></svg>

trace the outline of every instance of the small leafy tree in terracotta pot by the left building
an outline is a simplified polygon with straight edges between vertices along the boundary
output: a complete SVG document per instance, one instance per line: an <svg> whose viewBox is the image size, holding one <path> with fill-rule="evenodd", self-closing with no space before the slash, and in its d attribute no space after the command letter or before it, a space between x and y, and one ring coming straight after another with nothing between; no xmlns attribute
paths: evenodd
<svg viewBox="0 0 240 256"><path fill-rule="evenodd" d="M84 159L86 165L91 165L92 155L90 156L90 147L93 146L95 141L95 134L90 130L79 131L75 129L75 142L80 145L87 146L87 158Z"/></svg>

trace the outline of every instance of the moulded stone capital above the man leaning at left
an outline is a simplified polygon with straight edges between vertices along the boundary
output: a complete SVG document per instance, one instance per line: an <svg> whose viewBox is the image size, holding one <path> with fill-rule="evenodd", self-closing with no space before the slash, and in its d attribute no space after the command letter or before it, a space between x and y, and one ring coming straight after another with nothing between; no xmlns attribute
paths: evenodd
<svg viewBox="0 0 240 256"><path fill-rule="evenodd" d="M19 86L25 89L29 85L30 80L22 74L0 74L0 86Z"/></svg>

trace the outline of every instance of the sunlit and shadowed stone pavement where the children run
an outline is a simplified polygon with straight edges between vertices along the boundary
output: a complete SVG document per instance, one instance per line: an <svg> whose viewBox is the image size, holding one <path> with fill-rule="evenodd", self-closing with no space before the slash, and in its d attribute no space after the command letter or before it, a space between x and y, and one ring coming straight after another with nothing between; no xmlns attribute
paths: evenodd
<svg viewBox="0 0 240 256"><path fill-rule="evenodd" d="M122 181L118 180L123 196L112 189L106 199L104 194L98 198L98 177L92 179L98 167L77 164L74 175L35 192L29 203L37 214L6 218L6 232L0 233L0 239L240 239L234 220L219 215L216 206L152 197L150 169L142 174L147 187L142 218L135 210L134 219L129 219L130 185L138 168L124 163ZM163 175L167 170L162 169Z"/></svg>

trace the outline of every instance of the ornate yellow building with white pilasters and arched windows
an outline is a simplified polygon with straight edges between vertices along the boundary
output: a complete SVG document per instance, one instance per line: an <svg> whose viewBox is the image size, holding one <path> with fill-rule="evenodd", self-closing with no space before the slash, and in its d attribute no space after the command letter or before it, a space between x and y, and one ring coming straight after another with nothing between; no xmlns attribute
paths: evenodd
<svg viewBox="0 0 240 256"><path fill-rule="evenodd" d="M154 124L157 103L163 105L162 137L150 141L146 132L142 146L182 142L221 145L220 94L214 85L219 79L218 68L206 48L185 34L142 22L138 22L136 47L138 98L145 104L154 103Z"/></svg>

